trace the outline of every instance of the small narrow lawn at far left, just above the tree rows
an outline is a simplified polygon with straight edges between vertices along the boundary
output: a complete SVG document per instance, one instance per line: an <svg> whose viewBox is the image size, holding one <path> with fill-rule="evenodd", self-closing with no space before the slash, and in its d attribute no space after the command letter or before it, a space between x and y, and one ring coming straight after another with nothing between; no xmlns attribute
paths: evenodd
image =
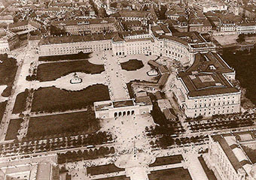
<svg viewBox="0 0 256 180"><path fill-rule="evenodd" d="M18 130L20 129L20 124L23 119L11 119L10 124L8 125L8 130L5 136L5 140L16 139L18 135Z"/></svg>

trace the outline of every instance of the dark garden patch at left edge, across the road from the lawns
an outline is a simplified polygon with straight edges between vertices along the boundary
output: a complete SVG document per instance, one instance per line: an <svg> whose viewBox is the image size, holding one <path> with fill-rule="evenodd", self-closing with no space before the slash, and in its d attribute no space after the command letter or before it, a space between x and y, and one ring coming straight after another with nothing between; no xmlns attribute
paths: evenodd
<svg viewBox="0 0 256 180"><path fill-rule="evenodd" d="M11 88L17 72L17 61L15 58L8 58L7 54L0 54L0 61L0 86L8 86L4 92L2 92L2 96L8 97L11 95Z"/></svg>

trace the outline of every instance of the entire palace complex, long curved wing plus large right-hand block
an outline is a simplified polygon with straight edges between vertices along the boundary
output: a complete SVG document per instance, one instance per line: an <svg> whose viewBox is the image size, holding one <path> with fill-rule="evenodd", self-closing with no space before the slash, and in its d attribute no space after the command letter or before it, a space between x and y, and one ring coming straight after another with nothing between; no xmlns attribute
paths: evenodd
<svg viewBox="0 0 256 180"><path fill-rule="evenodd" d="M239 89L233 86L235 71L215 52L215 45L199 33L175 33L158 24L147 30L83 36L45 37L39 56L110 51L112 55L166 56L190 65L177 77L175 96L187 117L239 113ZM168 79L168 77L167 77Z"/></svg>

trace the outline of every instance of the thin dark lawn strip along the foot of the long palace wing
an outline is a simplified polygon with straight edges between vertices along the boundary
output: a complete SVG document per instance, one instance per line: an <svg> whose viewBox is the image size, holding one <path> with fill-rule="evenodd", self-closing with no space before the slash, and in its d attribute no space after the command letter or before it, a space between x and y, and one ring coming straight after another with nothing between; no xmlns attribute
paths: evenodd
<svg viewBox="0 0 256 180"><path fill-rule="evenodd" d="M60 60L76 60L76 59L84 59L90 58L90 53L79 52L78 54L71 55L50 55L50 56L41 56L38 58L39 61L44 62L56 62Z"/></svg>

